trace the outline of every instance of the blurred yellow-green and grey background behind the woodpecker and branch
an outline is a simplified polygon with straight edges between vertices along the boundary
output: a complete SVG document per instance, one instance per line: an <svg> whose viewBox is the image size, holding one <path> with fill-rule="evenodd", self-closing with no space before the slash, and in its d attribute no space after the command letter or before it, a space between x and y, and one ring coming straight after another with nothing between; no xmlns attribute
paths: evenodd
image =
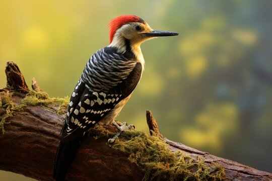
<svg viewBox="0 0 272 181"><path fill-rule="evenodd" d="M35 77L51 97L70 97L89 57L109 44L111 19L133 14L178 32L142 45L146 69L117 120L148 131L152 110L167 138L272 172L272 1L2 0L0 7L0 87L14 61L29 86ZM31 180L17 176L0 172L1 180Z"/></svg>

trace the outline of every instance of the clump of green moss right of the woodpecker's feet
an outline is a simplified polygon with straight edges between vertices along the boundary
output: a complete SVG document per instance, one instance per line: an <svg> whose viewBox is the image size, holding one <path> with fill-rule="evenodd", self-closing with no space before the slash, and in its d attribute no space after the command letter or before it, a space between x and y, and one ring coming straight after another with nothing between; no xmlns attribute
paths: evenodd
<svg viewBox="0 0 272 181"><path fill-rule="evenodd" d="M222 167L207 167L200 158L172 152L159 136L143 131L124 131L113 148L129 154L128 159L145 170L143 180L222 180Z"/></svg>

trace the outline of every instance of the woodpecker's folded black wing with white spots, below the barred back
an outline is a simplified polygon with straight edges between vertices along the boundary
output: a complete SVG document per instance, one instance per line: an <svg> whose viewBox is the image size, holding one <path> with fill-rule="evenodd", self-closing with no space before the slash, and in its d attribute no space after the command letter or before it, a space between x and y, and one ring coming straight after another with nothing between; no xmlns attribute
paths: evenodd
<svg viewBox="0 0 272 181"><path fill-rule="evenodd" d="M61 140L68 142L82 135L113 111L120 101L132 93L141 74L142 65L137 63L129 75L108 92L90 92L85 83L79 81L71 97Z"/></svg>

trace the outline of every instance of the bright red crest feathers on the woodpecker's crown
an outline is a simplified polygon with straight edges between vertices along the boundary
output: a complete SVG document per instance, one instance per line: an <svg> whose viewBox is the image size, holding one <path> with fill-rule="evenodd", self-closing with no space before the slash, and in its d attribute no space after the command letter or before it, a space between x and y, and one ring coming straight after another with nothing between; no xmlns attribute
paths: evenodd
<svg viewBox="0 0 272 181"><path fill-rule="evenodd" d="M108 27L109 27L109 37L110 37L110 43L113 40L113 36L115 32L123 25L131 22L144 22L140 17L135 15L122 15L114 18L110 21Z"/></svg>

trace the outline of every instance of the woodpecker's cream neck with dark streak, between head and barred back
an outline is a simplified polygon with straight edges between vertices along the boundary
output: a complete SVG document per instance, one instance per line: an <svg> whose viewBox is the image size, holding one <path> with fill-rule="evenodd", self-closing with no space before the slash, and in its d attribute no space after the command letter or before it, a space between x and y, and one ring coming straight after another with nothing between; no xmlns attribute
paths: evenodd
<svg viewBox="0 0 272 181"><path fill-rule="evenodd" d="M140 46L141 46L141 42L140 43L130 42L129 40L121 36L121 34L115 34L112 42L109 45L109 47L117 48L118 53L133 54L133 56L135 57L135 60L139 61L144 68L145 59L142 54L142 50Z"/></svg>

